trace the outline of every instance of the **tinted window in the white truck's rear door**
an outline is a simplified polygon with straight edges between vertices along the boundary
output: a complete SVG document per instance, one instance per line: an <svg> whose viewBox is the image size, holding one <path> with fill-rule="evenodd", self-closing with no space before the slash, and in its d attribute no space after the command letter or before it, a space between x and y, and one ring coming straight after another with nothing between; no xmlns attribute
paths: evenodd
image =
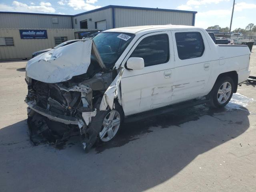
<svg viewBox="0 0 256 192"><path fill-rule="evenodd" d="M204 41L199 32L175 33L178 56L181 60L200 57L204 53Z"/></svg>

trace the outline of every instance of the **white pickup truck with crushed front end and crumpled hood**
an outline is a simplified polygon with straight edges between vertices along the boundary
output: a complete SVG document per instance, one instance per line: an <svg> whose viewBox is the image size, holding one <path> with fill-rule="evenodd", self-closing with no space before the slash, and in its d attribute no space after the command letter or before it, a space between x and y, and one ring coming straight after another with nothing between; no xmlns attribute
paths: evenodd
<svg viewBox="0 0 256 192"><path fill-rule="evenodd" d="M249 59L248 46L216 45L202 28L175 25L110 29L51 50L26 66L31 139L52 134L58 144L78 130L88 151L112 140L124 118L193 102L224 107L249 77Z"/></svg>

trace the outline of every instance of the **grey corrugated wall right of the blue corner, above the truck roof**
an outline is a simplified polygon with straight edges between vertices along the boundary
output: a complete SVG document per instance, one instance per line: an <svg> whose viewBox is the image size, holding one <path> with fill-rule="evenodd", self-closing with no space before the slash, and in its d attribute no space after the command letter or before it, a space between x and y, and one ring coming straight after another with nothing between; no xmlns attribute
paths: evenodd
<svg viewBox="0 0 256 192"><path fill-rule="evenodd" d="M116 28L140 25L193 25L193 14L115 8Z"/></svg>

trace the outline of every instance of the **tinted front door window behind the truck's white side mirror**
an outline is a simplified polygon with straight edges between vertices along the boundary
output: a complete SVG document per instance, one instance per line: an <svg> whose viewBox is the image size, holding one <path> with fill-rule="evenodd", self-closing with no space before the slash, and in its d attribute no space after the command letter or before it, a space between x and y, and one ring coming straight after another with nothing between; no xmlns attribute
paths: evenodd
<svg viewBox="0 0 256 192"><path fill-rule="evenodd" d="M166 63L169 60L169 39L167 34L144 38L130 57L144 59L145 67Z"/></svg>

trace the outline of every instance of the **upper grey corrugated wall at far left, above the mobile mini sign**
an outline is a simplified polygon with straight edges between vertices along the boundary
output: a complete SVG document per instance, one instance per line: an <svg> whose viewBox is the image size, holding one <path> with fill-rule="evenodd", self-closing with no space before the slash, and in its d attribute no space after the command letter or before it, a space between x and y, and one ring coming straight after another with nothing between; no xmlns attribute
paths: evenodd
<svg viewBox="0 0 256 192"><path fill-rule="evenodd" d="M52 18L58 23L52 23ZM72 29L71 16L0 13L0 28L4 29Z"/></svg>

